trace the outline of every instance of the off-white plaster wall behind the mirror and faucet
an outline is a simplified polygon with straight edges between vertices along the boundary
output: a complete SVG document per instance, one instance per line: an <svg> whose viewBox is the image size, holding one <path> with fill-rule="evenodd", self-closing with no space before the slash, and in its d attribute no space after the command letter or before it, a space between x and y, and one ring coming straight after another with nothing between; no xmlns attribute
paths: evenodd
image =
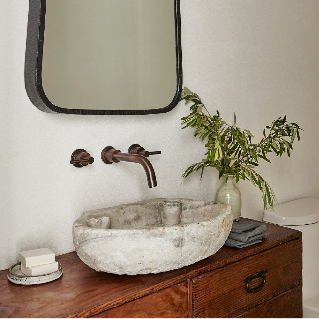
<svg viewBox="0 0 319 319"><path fill-rule="evenodd" d="M199 174L181 177L204 154L193 131L180 130L183 103L149 116L53 115L32 105L23 75L27 12L27 0L0 1L0 269L21 250L74 250L72 222L83 211L152 197L213 199L216 171L202 181ZM257 170L279 203L319 197L319 1L181 0L181 13L184 85L225 120L236 111L256 138L276 117L298 122L304 132L291 158ZM133 143L162 151L151 159L159 186L147 188L138 164L99 159L104 146L125 152ZM76 148L90 152L94 164L70 165ZM242 216L262 219L259 190L248 181L238 186Z"/></svg>

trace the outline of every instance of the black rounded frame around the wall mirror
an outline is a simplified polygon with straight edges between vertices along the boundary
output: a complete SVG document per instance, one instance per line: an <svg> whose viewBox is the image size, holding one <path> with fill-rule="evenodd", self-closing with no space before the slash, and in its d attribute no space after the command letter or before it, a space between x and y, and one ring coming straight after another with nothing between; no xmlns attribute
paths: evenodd
<svg viewBox="0 0 319 319"><path fill-rule="evenodd" d="M173 1L173 0L172 0ZM182 41L180 0L174 0L175 39L176 39L176 93L172 102L164 107L149 110L90 110L60 108L46 97L41 79L43 39L46 0L29 0L28 27L26 36L25 86L31 102L41 111L61 114L159 114L171 111L179 102L182 94Z"/></svg>

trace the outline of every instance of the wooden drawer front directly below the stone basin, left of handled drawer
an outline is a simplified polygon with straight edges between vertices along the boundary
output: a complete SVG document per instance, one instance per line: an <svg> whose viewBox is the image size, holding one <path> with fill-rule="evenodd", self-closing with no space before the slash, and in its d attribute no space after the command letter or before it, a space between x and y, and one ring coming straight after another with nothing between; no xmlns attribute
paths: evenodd
<svg viewBox="0 0 319 319"><path fill-rule="evenodd" d="M188 284L182 282L90 318L188 318Z"/></svg>

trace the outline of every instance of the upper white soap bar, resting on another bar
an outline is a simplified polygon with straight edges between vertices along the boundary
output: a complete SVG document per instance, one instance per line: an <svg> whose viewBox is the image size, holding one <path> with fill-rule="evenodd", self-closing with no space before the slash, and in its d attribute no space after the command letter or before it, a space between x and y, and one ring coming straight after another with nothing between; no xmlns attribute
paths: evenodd
<svg viewBox="0 0 319 319"><path fill-rule="evenodd" d="M54 263L54 259L54 252L48 248L26 250L19 253L19 262L25 267Z"/></svg>

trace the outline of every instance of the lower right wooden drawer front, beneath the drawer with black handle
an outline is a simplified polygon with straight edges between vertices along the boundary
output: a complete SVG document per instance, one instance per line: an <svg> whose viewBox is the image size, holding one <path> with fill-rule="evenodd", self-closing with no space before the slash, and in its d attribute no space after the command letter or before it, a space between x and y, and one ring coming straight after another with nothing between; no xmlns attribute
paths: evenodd
<svg viewBox="0 0 319 319"><path fill-rule="evenodd" d="M302 318L301 289L295 286L237 318Z"/></svg>

